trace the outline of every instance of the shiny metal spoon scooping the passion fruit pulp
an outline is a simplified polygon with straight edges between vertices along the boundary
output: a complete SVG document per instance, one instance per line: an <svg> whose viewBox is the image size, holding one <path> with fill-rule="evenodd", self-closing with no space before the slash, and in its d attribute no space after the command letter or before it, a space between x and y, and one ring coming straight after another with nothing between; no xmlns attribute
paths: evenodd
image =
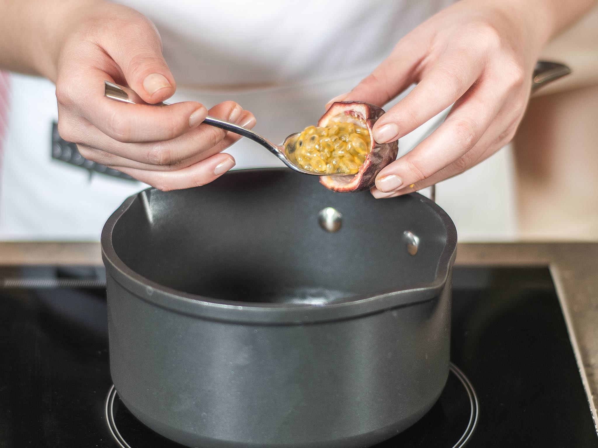
<svg viewBox="0 0 598 448"><path fill-rule="evenodd" d="M135 91L131 90L130 88L112 84L112 82L109 81L104 81L104 96L112 100L120 101L122 103L148 104L144 102L144 100L142 100L141 97L139 97L139 95L136 94ZM168 103L158 103L152 106L167 105ZM295 142L297 141L297 136L300 134L299 132L295 132L286 137L282 145L274 145L274 143L270 142L270 140L262 137L260 134L255 133L252 130L246 129L234 123L229 123L228 121L223 121L221 119L214 118L213 116L206 116L203 122L205 124L209 124L210 126L224 129L225 131L230 131L234 134L239 134L240 136L247 137L248 139L251 139L256 143L259 143L272 154L274 154L277 158L279 158L283 162L283 164L291 168L291 170L297 171L297 173L312 174L312 176L347 176L347 174L343 173L315 173L314 171L304 170L303 168L300 168L293 162L291 162L291 160L289 160L289 158L286 157L286 151L295 151Z"/></svg>

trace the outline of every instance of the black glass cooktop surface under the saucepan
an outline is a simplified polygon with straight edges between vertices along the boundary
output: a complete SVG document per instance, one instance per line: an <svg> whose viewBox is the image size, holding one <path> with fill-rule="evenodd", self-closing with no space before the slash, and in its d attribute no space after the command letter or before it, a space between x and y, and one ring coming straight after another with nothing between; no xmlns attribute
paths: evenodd
<svg viewBox="0 0 598 448"><path fill-rule="evenodd" d="M167 448L113 391L102 269L0 269L0 447ZM545 269L456 268L451 373L379 448L598 447Z"/></svg>

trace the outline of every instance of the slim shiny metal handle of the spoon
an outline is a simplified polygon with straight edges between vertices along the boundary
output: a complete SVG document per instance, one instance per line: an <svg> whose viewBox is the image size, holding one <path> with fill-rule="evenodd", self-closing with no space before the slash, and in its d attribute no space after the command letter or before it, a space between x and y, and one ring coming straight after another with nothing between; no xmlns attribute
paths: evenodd
<svg viewBox="0 0 598 448"><path fill-rule="evenodd" d="M113 84L109 81L104 81L104 96L112 99L120 101L121 103L130 103L130 104L148 104L144 102L144 100L139 97L135 91L131 90L130 88L123 87L121 85ZM168 106L169 103L158 103L152 106ZM225 131L230 131L234 134L239 134L240 136L246 137L250 140L253 140L256 143L264 146L268 151L274 154L277 158L285 162L288 165L288 160L285 157L285 154L280 151L280 148L274 143L270 142L270 140L265 139L260 134L252 131L251 129L244 128L239 126L238 124L229 123L228 121L224 121L218 118L214 118L213 116L206 116L203 120L205 124L209 124L210 126L224 129Z"/></svg>

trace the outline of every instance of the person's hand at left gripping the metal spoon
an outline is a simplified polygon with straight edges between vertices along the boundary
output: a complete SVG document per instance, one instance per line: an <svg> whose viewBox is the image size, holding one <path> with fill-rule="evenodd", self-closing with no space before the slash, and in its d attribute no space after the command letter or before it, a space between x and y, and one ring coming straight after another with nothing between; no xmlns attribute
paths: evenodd
<svg viewBox="0 0 598 448"><path fill-rule="evenodd" d="M239 136L202 121L209 113L253 127L254 116L236 103L208 111L197 102L156 107L103 96L105 80L128 85L147 103L175 92L160 36L147 18L97 2L66 28L57 47L58 130L83 157L163 191L204 185L234 166L231 155L220 153Z"/></svg>

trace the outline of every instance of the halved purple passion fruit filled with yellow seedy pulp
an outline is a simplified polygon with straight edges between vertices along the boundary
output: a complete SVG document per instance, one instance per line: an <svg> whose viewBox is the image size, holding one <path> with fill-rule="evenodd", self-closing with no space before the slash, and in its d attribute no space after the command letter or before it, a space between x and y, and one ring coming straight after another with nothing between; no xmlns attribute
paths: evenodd
<svg viewBox="0 0 598 448"><path fill-rule="evenodd" d="M376 143L372 127L384 111L357 101L332 103L318 125L309 126L295 140L291 161L322 176L320 182L337 192L359 192L374 186L377 174L396 158L398 145Z"/></svg>

